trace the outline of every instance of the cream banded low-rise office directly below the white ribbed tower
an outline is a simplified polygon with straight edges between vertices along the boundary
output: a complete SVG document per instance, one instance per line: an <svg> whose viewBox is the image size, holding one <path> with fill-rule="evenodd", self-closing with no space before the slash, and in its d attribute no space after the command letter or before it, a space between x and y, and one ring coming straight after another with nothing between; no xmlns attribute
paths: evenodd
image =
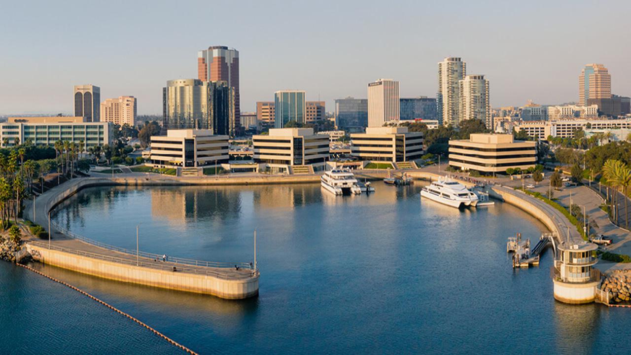
<svg viewBox="0 0 631 355"><path fill-rule="evenodd" d="M405 162L423 155L423 133L407 127L369 127L351 134L351 155L360 160Z"/></svg>

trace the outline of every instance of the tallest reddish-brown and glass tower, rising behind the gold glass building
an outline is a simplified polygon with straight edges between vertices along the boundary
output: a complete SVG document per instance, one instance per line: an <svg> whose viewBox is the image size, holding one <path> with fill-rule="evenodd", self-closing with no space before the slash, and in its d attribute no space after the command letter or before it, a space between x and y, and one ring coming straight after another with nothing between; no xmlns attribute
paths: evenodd
<svg viewBox="0 0 631 355"><path fill-rule="evenodd" d="M201 81L227 81L234 88L235 124L241 110L239 95L239 51L223 45L213 45L198 52L198 79Z"/></svg>

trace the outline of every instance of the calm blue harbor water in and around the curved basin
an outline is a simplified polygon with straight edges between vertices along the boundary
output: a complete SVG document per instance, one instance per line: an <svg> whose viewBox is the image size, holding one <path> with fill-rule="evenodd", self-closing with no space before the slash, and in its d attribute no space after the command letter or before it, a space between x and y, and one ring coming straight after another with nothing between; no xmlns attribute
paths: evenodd
<svg viewBox="0 0 631 355"><path fill-rule="evenodd" d="M141 223L141 250L222 262L251 262L256 228L255 299L38 267L203 354L589 354L608 351L612 337L620 349L631 346L631 311L554 301L550 253L538 268L510 267L506 238L521 232L534 242L545 231L528 214L504 203L456 210L421 201L418 185L375 186L373 195L345 197L314 184L90 188L54 216L78 234L130 249ZM27 334L20 334L27 324L9 332L14 339L0 346L56 353L44 346L54 334L76 352L117 352L126 344L130 353L174 351L76 292L0 267L10 286L0 289L2 324L44 317ZM33 340L41 344L31 347Z"/></svg>

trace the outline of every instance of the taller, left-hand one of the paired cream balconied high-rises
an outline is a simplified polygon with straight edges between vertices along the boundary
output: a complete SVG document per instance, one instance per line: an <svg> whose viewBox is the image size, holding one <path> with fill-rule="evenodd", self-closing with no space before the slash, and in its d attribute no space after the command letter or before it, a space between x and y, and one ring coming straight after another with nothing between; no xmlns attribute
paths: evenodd
<svg viewBox="0 0 631 355"><path fill-rule="evenodd" d="M467 73L467 64L459 57L445 57L438 63L438 93L436 105L438 119L445 126L458 125L460 104L460 80Z"/></svg>

